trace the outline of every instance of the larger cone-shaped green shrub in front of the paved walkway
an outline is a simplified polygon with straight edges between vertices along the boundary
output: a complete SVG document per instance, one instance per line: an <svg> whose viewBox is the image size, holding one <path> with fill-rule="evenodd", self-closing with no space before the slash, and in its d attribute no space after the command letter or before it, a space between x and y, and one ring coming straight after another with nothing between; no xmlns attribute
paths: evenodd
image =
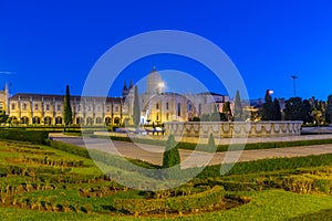
<svg viewBox="0 0 332 221"><path fill-rule="evenodd" d="M180 156L176 147L174 135L169 135L163 156L163 168L170 168L180 165Z"/></svg>

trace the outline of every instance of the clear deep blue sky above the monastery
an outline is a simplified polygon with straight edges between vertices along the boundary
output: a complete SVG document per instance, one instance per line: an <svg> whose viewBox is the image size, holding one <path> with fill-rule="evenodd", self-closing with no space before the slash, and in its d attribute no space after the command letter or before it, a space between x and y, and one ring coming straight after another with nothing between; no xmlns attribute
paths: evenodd
<svg viewBox="0 0 332 221"><path fill-rule="evenodd" d="M181 30L219 45L241 73L251 98L332 94L332 1L7 1L0 0L0 84L11 93L81 94L85 77L111 46L153 30ZM199 2L199 3L196 3ZM147 57L125 70L139 81L152 66L196 75L210 91L208 71L181 57ZM11 73L11 74L9 74Z"/></svg>

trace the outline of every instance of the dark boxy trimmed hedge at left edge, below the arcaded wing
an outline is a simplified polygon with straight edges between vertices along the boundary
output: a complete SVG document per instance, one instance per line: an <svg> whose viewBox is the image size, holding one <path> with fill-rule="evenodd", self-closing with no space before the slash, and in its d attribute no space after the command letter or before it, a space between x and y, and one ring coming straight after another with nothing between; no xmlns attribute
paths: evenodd
<svg viewBox="0 0 332 221"><path fill-rule="evenodd" d="M31 141L37 144L45 144L49 137L46 131L41 130L22 130L22 129L1 129L0 139L13 139L21 141Z"/></svg>

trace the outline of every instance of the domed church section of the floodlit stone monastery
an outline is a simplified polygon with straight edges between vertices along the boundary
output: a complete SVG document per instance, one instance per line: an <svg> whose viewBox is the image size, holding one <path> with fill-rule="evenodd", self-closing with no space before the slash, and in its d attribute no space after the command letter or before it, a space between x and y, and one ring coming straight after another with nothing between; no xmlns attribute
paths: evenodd
<svg viewBox="0 0 332 221"><path fill-rule="evenodd" d="M165 82L154 67L147 76L146 92L139 95L142 123L187 122L194 116L222 112L229 96L216 93L178 94L165 92Z"/></svg>

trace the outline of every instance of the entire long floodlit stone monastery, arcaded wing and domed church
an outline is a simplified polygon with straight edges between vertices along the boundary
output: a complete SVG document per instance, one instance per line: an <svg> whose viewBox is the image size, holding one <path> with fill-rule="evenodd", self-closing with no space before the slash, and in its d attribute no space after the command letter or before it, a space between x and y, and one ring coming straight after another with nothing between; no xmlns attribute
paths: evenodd
<svg viewBox="0 0 332 221"><path fill-rule="evenodd" d="M147 76L146 92L139 95L142 124L186 122L194 116L222 112L229 96L216 93L177 94L165 92L165 83L154 67ZM2 106L1 106L2 105ZM73 124L104 125L132 123L133 82L124 83L122 97L71 96ZM0 92L0 108L12 122L24 125L62 125L64 95L19 93L9 97L8 87Z"/></svg>

